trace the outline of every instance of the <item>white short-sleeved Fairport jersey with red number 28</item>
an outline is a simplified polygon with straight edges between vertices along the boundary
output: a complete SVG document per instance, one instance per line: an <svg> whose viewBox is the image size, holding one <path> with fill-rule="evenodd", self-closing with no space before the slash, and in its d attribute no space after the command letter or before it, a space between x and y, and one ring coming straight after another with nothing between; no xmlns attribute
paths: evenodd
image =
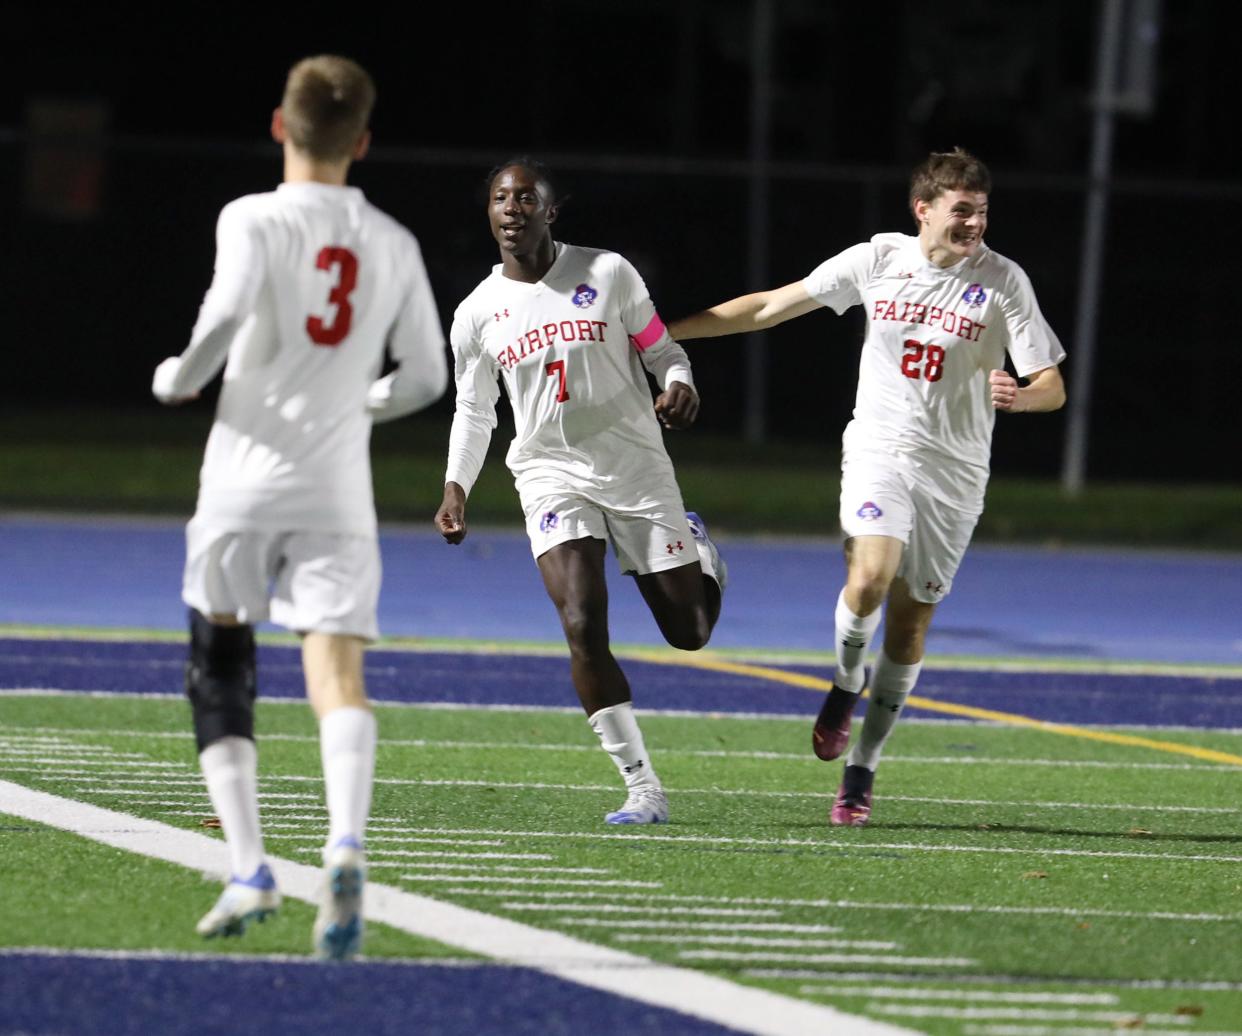
<svg viewBox="0 0 1242 1036"><path fill-rule="evenodd" d="M1022 268L986 245L943 270L919 240L879 234L816 267L802 282L843 313L863 306L846 448L879 447L965 465L987 478L996 420L987 375L1009 352L1018 376L1066 358ZM980 482L981 479L981 482Z"/></svg>

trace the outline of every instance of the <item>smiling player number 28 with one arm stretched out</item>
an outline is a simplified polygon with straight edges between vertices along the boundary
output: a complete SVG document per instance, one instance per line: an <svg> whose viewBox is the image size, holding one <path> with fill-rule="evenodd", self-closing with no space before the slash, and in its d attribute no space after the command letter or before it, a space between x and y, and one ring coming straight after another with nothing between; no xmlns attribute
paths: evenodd
<svg viewBox="0 0 1242 1036"><path fill-rule="evenodd" d="M836 759L866 681L864 657L887 601L871 703L831 822L871 816L881 750L923 665L936 604L953 586L982 513L996 410L1056 410L1064 350L1031 282L984 243L991 175L955 149L910 178L917 236L878 234L801 281L723 302L669 325L674 338L763 330L827 306L862 306L867 335L853 420L843 436L841 528L846 584L836 607L836 668L812 732ZM1004 369L1009 353L1021 384Z"/></svg>

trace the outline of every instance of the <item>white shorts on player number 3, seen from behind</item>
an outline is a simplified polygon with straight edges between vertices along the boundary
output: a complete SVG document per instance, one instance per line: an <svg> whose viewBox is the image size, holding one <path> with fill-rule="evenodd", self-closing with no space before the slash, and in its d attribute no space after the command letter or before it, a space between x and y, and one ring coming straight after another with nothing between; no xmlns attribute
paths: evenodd
<svg viewBox="0 0 1242 1036"><path fill-rule="evenodd" d="M185 545L181 600L204 615L271 619L299 634L379 636L374 537L237 532L191 520Z"/></svg>

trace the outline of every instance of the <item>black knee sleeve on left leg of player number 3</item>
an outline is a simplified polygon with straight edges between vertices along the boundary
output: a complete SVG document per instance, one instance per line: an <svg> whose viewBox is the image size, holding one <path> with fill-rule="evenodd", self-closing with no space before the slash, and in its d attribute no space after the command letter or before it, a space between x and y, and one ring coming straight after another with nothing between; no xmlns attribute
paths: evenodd
<svg viewBox="0 0 1242 1036"><path fill-rule="evenodd" d="M255 738L255 627L217 626L190 612L185 693L199 752L221 738Z"/></svg>

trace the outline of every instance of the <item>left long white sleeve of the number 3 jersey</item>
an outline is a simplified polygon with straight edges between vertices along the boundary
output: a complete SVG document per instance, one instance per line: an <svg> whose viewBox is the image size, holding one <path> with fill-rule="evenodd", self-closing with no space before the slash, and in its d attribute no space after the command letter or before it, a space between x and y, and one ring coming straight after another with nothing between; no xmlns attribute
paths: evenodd
<svg viewBox="0 0 1242 1036"><path fill-rule="evenodd" d="M152 391L161 401L194 395L224 366L229 347L255 308L267 272L263 237L246 206L233 201L216 221L216 266L199 308L190 344L155 370Z"/></svg>

